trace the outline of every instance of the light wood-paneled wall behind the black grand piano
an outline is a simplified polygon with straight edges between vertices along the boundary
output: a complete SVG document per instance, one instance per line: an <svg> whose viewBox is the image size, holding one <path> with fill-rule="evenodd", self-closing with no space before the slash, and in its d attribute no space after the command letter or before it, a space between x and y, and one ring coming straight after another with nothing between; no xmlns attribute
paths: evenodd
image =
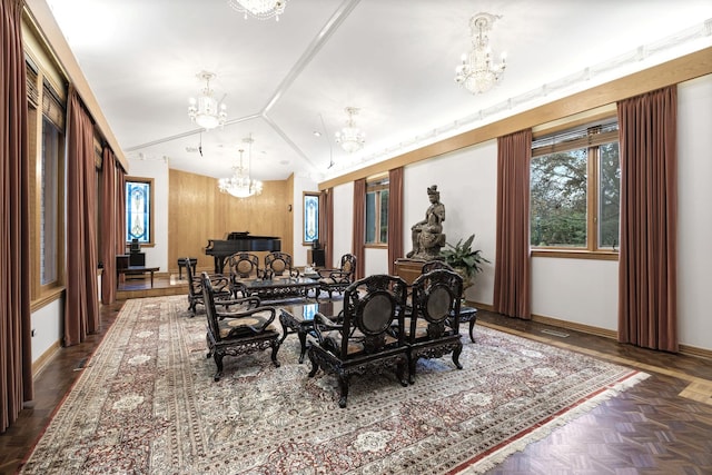
<svg viewBox="0 0 712 475"><path fill-rule="evenodd" d="M224 239L230 231L280 237L281 250L291 254L293 214L287 205L293 186L291 179L265 181L261 195L240 199L220 192L212 177L169 170L169 271L178 271L179 257L196 257L198 271L211 271L214 259L205 254L208 239Z"/></svg>

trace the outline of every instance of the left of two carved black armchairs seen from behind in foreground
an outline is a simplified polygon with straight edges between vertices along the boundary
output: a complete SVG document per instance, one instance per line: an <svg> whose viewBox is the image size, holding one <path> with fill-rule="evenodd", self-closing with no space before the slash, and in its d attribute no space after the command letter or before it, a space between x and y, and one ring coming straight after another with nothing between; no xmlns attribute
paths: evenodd
<svg viewBox="0 0 712 475"><path fill-rule="evenodd" d="M356 280L344 293L340 321L314 316L309 347L314 377L319 368L338 377L339 407L346 407L352 375L380 373L396 366L397 378L408 385L408 347L404 338L407 284L400 277L374 275Z"/></svg>

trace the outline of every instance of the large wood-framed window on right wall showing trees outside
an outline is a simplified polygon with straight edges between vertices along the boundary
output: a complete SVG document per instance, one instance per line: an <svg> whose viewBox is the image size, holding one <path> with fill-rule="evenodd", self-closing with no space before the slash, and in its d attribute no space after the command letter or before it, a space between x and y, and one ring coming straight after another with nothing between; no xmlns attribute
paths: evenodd
<svg viewBox="0 0 712 475"><path fill-rule="evenodd" d="M531 171L533 248L616 250L621 189L617 122L535 139Z"/></svg>

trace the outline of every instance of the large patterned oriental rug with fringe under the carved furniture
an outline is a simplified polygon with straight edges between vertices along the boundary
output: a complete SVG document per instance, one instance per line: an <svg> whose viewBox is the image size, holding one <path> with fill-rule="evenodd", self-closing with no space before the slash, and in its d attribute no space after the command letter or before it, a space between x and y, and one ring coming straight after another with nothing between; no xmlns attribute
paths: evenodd
<svg viewBox="0 0 712 475"><path fill-rule="evenodd" d="M647 375L494 329L459 362L418 362L338 385L287 337L225 358L215 383L205 316L185 296L128 300L22 474L474 474ZM465 331L466 333L466 331Z"/></svg>

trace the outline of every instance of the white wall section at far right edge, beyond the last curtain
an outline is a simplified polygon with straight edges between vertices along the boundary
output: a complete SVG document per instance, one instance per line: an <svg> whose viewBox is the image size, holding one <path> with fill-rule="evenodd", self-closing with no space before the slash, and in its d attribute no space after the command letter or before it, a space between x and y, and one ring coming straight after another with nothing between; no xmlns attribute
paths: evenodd
<svg viewBox="0 0 712 475"><path fill-rule="evenodd" d="M712 76L678 88L678 333L712 349Z"/></svg>

